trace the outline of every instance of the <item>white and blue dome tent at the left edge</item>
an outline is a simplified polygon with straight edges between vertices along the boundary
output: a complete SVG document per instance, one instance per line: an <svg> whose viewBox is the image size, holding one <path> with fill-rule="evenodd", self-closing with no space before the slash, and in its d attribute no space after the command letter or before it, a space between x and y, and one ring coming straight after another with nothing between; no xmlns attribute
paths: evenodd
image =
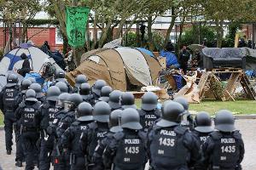
<svg viewBox="0 0 256 170"><path fill-rule="evenodd" d="M20 44L19 48L15 48L3 56L3 59L0 62L0 74L5 75L7 71L16 71L20 69L23 64L23 59L20 58L20 55L23 53L28 57L32 71L34 72L39 72L41 70L45 59L49 59L49 62L54 64L57 70L60 69L60 67L55 64L55 60L50 58L49 55L44 54L41 49L34 47L31 44L23 43Z"/></svg>

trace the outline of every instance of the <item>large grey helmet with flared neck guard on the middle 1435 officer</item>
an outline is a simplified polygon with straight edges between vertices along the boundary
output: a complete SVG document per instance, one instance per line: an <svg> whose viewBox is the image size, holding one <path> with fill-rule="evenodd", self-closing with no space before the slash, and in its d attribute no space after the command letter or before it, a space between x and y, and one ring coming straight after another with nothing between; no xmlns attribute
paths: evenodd
<svg viewBox="0 0 256 170"><path fill-rule="evenodd" d="M181 116L184 112L183 105L177 102L169 101L163 105L162 116L160 122L156 125L160 127L172 127L177 126L181 122Z"/></svg>

